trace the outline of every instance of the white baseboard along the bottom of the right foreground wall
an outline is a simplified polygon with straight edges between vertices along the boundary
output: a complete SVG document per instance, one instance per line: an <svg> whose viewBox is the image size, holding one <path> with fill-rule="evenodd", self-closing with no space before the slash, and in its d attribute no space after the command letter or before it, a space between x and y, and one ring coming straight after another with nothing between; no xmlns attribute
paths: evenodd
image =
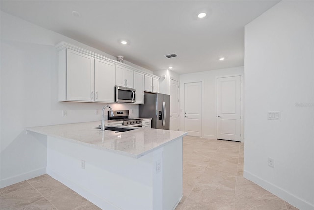
<svg viewBox="0 0 314 210"><path fill-rule="evenodd" d="M265 190L271 192L272 194L278 196L279 198L283 199L284 201L287 201L289 204L295 206L296 208L300 210L314 210L314 205L310 204L307 201L304 201L303 199L287 192L286 190L273 185L272 183L269 183L266 180L261 179L260 177L251 174L248 171L243 172L243 177L246 179L256 183L257 185L261 186Z"/></svg>

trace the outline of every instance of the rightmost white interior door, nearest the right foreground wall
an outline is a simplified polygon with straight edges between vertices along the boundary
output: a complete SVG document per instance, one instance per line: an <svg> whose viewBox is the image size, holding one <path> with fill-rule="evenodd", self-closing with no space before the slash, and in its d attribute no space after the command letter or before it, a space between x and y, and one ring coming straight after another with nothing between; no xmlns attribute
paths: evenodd
<svg viewBox="0 0 314 210"><path fill-rule="evenodd" d="M217 139L241 141L241 76L217 78Z"/></svg>

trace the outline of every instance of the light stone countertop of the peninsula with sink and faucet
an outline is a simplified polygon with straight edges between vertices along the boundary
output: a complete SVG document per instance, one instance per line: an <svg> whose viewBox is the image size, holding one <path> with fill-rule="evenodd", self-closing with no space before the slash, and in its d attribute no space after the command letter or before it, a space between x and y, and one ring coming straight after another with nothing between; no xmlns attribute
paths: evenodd
<svg viewBox="0 0 314 210"><path fill-rule="evenodd" d="M108 120L105 121L105 126L108 125L108 122L111 124ZM117 122L113 121L113 123ZM115 131L101 131L100 129L95 129L98 125L100 125L100 121L30 127L26 128L26 131L56 137L65 141L71 141L133 158L140 158L145 154L161 148L178 137L187 135L187 132L182 131L150 128L138 128L116 133Z"/></svg>

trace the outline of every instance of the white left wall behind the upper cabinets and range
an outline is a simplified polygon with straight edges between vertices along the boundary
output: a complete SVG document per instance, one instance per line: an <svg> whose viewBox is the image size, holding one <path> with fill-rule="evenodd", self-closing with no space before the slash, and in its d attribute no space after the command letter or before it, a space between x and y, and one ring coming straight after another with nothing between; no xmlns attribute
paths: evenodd
<svg viewBox="0 0 314 210"><path fill-rule="evenodd" d="M2 11L0 21L0 187L4 187L46 171L47 145L27 135L25 127L101 119L96 110L101 110L103 103L58 102L54 46L66 41L116 57ZM131 110L130 117L138 117L138 105L112 104L112 108ZM62 117L62 110L67 117Z"/></svg>

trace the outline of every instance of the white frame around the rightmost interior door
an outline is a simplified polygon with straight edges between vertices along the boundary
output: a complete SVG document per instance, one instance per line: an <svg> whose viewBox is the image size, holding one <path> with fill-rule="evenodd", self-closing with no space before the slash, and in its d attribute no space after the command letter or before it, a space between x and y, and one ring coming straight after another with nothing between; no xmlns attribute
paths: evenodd
<svg viewBox="0 0 314 210"><path fill-rule="evenodd" d="M224 76L216 76L215 77L215 98L216 98L216 103L215 103L215 114L216 114L216 138L218 138L218 118L217 118L217 109L218 109L218 94L217 94L217 85L218 85L218 78L226 78L226 77L236 77L240 76L241 77L241 142L244 142L244 75L243 74L230 74L230 75L224 75Z"/></svg>

